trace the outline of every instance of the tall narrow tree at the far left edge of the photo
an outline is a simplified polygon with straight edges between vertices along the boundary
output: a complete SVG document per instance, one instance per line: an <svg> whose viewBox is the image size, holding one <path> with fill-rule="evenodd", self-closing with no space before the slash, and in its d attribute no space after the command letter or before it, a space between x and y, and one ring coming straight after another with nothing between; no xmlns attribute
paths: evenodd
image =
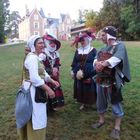
<svg viewBox="0 0 140 140"><path fill-rule="evenodd" d="M9 0L0 0L0 43L4 43L5 35L8 30L8 19L9 19Z"/></svg>

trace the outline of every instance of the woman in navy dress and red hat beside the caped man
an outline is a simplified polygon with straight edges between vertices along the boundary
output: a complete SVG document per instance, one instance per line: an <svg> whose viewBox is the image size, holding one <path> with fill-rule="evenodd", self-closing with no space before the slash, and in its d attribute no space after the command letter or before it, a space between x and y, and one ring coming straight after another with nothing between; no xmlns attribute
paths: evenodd
<svg viewBox="0 0 140 140"><path fill-rule="evenodd" d="M91 46L93 40L91 32L83 32L76 39L76 52L71 65L71 76L74 79L74 99L79 102L80 110L85 106L93 105L96 102L96 89L92 77L95 75L93 61L96 56L96 49ZM78 44L80 43L80 47Z"/></svg>

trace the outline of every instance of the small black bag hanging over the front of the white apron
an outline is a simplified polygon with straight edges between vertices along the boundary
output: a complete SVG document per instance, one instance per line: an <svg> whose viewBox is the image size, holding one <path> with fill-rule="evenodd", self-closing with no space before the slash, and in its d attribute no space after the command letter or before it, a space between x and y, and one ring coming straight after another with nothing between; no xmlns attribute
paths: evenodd
<svg viewBox="0 0 140 140"><path fill-rule="evenodd" d="M36 87L35 101L37 103L46 103L47 102L46 92L41 87Z"/></svg>

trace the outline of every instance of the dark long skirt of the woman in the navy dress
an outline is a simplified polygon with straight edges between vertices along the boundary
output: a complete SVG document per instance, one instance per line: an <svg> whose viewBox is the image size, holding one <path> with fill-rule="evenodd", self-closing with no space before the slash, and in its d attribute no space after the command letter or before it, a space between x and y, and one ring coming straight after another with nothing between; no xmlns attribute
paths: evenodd
<svg viewBox="0 0 140 140"><path fill-rule="evenodd" d="M96 86L94 81L91 79L90 82L84 82L82 80L74 80L74 98L87 105L96 103Z"/></svg>

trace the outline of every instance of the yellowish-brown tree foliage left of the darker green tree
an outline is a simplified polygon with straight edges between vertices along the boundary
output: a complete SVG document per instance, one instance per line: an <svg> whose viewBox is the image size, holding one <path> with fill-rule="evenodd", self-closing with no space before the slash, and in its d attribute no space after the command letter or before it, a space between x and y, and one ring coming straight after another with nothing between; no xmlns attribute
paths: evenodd
<svg viewBox="0 0 140 140"><path fill-rule="evenodd" d="M104 6L99 13L88 11L85 15L86 25L96 27L97 31L107 25L118 27L120 24L120 5L116 1L104 0Z"/></svg>

